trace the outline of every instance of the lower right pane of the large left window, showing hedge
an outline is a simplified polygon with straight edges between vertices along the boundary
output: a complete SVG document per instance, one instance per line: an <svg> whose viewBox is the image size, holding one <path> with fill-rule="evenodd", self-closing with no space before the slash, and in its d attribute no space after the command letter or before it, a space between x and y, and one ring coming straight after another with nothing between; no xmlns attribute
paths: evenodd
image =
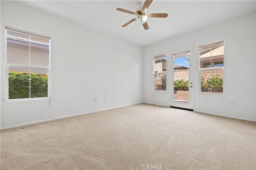
<svg viewBox="0 0 256 170"><path fill-rule="evenodd" d="M48 70L30 69L30 97L48 97Z"/></svg>

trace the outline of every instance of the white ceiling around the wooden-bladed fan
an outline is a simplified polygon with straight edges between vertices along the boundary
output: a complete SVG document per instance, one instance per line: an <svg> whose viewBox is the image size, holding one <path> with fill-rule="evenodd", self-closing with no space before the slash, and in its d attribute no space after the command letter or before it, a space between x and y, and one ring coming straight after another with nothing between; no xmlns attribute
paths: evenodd
<svg viewBox="0 0 256 170"><path fill-rule="evenodd" d="M124 8L135 12L137 4L144 0L18 2L142 47L256 12L255 0L154 0L147 12L168 13L168 17L148 18L149 30L144 30L136 22L122 28L134 16L116 10Z"/></svg>

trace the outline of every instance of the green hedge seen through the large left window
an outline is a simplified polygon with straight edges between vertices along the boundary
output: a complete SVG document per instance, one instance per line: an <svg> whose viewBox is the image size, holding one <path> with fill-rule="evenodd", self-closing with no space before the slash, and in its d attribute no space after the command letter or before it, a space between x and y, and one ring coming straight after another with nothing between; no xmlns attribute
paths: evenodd
<svg viewBox="0 0 256 170"><path fill-rule="evenodd" d="M29 98L29 90L31 98L47 97L48 75L9 71L9 99Z"/></svg>

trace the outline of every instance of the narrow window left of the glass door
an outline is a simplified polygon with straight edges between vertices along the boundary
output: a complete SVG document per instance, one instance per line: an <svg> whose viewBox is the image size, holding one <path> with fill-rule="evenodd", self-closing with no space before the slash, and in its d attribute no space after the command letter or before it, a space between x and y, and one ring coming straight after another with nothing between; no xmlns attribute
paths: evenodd
<svg viewBox="0 0 256 170"><path fill-rule="evenodd" d="M154 55L154 90L166 91L166 54Z"/></svg>

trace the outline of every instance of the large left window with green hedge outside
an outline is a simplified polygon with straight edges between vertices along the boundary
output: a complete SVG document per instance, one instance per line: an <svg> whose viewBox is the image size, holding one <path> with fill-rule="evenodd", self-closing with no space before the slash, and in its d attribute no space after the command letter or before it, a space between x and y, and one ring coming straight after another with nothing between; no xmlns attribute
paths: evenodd
<svg viewBox="0 0 256 170"><path fill-rule="evenodd" d="M50 98L50 37L6 27L7 99Z"/></svg>

